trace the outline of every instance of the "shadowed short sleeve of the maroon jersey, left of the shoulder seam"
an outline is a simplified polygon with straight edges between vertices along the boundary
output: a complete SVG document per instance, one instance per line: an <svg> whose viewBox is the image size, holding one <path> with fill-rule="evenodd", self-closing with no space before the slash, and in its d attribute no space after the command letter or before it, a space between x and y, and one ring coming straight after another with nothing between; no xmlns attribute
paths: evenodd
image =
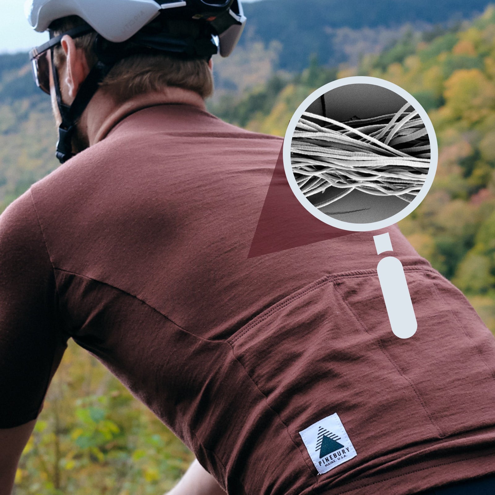
<svg viewBox="0 0 495 495"><path fill-rule="evenodd" d="M0 428L38 417L67 338L30 191L0 215Z"/></svg>

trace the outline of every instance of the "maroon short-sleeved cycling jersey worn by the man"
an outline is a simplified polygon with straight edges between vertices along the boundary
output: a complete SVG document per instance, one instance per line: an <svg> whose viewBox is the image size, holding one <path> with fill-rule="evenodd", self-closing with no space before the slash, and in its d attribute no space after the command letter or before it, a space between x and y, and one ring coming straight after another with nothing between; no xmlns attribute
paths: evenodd
<svg viewBox="0 0 495 495"><path fill-rule="evenodd" d="M248 257L282 140L155 103L0 217L0 427L38 416L72 338L229 494L495 473L495 341L466 298L396 226ZM405 340L377 277L386 231L418 322Z"/></svg>

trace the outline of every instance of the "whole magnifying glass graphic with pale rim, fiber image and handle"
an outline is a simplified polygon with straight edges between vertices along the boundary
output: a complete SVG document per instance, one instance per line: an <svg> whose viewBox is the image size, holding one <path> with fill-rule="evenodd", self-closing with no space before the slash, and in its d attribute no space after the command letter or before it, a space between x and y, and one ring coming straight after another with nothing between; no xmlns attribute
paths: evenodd
<svg viewBox="0 0 495 495"><path fill-rule="evenodd" d="M426 196L438 146L430 118L409 93L356 76L322 86L299 105L283 161L293 193L313 216L346 231L375 231L407 216ZM373 240L392 331L407 339L417 321L402 264L389 255L388 232Z"/></svg>

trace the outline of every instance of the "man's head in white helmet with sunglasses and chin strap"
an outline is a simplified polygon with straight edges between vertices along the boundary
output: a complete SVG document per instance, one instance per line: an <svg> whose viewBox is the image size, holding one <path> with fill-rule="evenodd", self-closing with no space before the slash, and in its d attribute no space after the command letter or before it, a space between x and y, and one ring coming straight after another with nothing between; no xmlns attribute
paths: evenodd
<svg viewBox="0 0 495 495"><path fill-rule="evenodd" d="M28 5L31 25L50 33L31 59L38 85L47 93L51 89L58 109L60 161L81 149L72 146L77 123L97 92L116 104L174 87L203 99L211 95L211 55L227 56L246 21L240 0L162 2L32 0Z"/></svg>

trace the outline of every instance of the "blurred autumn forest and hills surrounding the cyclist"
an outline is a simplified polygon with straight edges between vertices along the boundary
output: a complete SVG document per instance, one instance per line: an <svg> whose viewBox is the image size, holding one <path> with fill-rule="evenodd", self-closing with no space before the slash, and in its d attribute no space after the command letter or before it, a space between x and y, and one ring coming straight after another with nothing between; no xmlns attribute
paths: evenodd
<svg viewBox="0 0 495 495"><path fill-rule="evenodd" d="M399 226L495 332L495 7L475 0L304 3L303 15L300 0L245 5L240 46L215 60L209 109L283 136L300 102L336 78L376 76L411 93L433 121L440 156L431 191ZM0 55L0 211L58 165L51 122L26 53ZM161 494L192 459L69 341L14 493Z"/></svg>

